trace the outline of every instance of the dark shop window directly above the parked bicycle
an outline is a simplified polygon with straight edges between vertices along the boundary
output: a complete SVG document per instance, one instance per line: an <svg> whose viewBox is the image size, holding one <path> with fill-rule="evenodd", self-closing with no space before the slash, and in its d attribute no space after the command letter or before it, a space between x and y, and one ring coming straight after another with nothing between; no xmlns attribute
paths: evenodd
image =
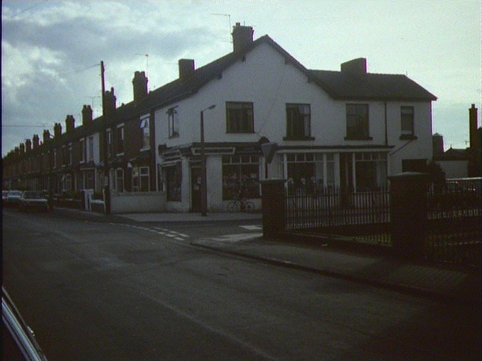
<svg viewBox="0 0 482 361"><path fill-rule="evenodd" d="M222 157L222 198L259 198L259 156Z"/></svg>

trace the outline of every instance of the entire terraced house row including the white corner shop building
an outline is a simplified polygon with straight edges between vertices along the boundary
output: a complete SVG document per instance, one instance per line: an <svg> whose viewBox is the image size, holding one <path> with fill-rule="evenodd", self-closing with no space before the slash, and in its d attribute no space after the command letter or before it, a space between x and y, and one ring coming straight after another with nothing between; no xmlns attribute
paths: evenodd
<svg viewBox="0 0 482 361"><path fill-rule="evenodd" d="M362 192L431 160L436 97L407 76L369 73L364 58L310 70L250 26L232 35L224 57L180 59L179 78L150 92L136 72L132 102L116 107L110 89L99 118L85 105L82 124L68 115L64 131L19 145L3 159L4 189L100 193L109 174L112 212L198 212L204 154L207 210L218 212L240 191L260 207L265 178Z"/></svg>

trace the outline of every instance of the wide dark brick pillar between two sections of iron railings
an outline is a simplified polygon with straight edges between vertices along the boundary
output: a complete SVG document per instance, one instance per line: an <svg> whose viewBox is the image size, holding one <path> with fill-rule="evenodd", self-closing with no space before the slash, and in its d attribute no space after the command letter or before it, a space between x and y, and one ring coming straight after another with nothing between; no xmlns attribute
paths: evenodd
<svg viewBox="0 0 482 361"><path fill-rule="evenodd" d="M428 174L404 172L389 180L393 254L420 259L427 227Z"/></svg>

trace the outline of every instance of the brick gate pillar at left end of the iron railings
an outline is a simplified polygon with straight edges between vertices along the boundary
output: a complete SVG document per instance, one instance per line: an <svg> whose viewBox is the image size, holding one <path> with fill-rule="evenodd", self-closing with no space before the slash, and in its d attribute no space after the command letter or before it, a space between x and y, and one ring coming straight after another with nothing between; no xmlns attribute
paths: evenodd
<svg viewBox="0 0 482 361"><path fill-rule="evenodd" d="M261 181L262 235L276 236L285 230L285 180L267 179Z"/></svg>

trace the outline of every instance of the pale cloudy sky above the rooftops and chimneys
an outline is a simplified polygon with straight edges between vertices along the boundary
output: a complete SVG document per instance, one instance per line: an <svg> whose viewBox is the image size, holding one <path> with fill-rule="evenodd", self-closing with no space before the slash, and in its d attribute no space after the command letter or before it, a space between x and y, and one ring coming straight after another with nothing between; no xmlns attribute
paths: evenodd
<svg viewBox="0 0 482 361"><path fill-rule="evenodd" d="M465 148L468 109L481 124L482 1L2 1L2 156L66 115L101 115L100 62L117 104L131 102L135 71L149 90L231 53L235 23L269 35L308 69L339 71L366 57L370 73L404 74L436 95L433 131Z"/></svg>

